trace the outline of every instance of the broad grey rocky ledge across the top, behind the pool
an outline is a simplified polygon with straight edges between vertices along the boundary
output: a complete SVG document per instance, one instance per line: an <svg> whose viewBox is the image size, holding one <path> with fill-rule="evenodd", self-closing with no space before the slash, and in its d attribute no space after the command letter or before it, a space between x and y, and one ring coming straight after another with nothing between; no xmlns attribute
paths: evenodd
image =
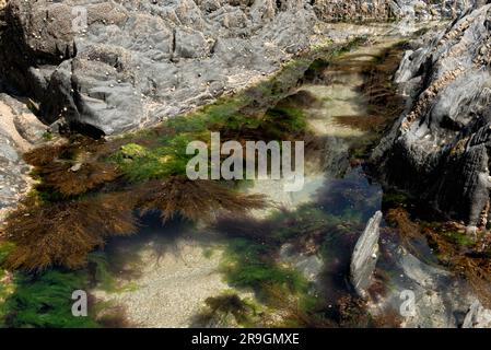
<svg viewBox="0 0 491 350"><path fill-rule="evenodd" d="M11 0L0 12L0 81L38 103L47 125L119 133L276 71L328 38L323 21L445 18L474 3L433 2Z"/></svg>

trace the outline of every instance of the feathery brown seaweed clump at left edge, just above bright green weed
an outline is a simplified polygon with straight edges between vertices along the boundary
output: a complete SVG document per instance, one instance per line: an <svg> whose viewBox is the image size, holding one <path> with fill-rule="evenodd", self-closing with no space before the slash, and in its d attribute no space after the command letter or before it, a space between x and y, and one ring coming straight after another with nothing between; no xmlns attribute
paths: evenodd
<svg viewBox="0 0 491 350"><path fill-rule="evenodd" d="M4 259L9 269L79 268L86 255L112 235L137 230L132 205L120 194L56 203L26 203L7 219L5 234L15 244ZM31 199L31 201L34 199Z"/></svg>

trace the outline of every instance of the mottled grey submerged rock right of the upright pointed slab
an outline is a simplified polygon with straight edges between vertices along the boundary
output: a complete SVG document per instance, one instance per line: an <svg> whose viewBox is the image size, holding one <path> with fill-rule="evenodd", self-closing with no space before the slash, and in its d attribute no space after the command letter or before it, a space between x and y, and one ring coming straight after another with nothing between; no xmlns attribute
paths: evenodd
<svg viewBox="0 0 491 350"><path fill-rule="evenodd" d="M394 236L388 237L381 250L377 271L385 276L385 289L369 295L371 314L386 315L391 311L404 328L456 328L464 322L475 298L466 281L434 264L422 252L418 252L419 257L412 255Z"/></svg>

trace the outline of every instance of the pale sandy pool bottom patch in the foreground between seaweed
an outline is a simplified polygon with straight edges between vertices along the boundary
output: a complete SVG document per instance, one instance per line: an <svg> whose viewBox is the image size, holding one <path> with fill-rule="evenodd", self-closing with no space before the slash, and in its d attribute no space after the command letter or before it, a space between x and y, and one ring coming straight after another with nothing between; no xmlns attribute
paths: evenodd
<svg viewBox="0 0 491 350"><path fill-rule="evenodd" d="M122 306L131 325L145 328L182 328L192 325L207 298L230 290L220 273L223 250L194 238L178 238L172 249L156 256L143 248L141 275L130 291L93 291L104 302Z"/></svg>

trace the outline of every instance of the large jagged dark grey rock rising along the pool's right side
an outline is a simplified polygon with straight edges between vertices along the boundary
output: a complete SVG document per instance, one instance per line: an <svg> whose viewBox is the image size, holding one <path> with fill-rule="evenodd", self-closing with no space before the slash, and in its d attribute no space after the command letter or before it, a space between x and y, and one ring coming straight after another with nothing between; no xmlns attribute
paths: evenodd
<svg viewBox="0 0 491 350"><path fill-rule="evenodd" d="M382 180L470 225L489 201L491 5L406 52L396 82L408 106L375 149ZM486 213L487 215L487 213Z"/></svg>

